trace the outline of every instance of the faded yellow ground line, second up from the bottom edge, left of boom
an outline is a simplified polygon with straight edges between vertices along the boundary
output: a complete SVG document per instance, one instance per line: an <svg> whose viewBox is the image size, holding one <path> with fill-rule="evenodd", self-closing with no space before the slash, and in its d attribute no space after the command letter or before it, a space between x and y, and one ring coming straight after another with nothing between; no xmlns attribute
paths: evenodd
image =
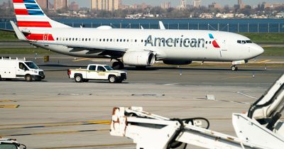
<svg viewBox="0 0 284 149"><path fill-rule="evenodd" d="M53 132L45 132L45 133L23 133L23 134L13 134L13 135L3 135L0 137L53 135L53 134L65 134L65 133L85 133L85 132L96 132L96 131L110 131L110 130L109 129L93 129L93 130L84 130L84 131L53 131Z"/></svg>

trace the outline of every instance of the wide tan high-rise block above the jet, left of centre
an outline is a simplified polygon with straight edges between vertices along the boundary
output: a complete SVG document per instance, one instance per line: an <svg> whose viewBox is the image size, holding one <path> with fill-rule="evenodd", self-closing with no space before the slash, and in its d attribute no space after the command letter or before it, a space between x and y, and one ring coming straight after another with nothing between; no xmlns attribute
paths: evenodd
<svg viewBox="0 0 284 149"><path fill-rule="evenodd" d="M91 0L94 11L115 11L121 9L121 0Z"/></svg>

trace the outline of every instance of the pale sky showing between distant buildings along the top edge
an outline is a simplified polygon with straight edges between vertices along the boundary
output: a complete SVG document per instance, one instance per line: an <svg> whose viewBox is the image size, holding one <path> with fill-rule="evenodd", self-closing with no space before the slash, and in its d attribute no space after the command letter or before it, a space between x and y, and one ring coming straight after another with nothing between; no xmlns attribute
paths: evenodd
<svg viewBox="0 0 284 149"><path fill-rule="evenodd" d="M8 0L0 0L0 4L2 4L4 1ZM50 0L53 1L53 0ZM80 6L89 6L90 0L69 0L70 2L76 1ZM153 6L160 6L160 4L164 1L170 1L172 6L177 6L180 4L180 0L122 0L123 4L141 4L145 2L146 4L151 4ZM257 5L259 3L262 3L263 1L266 1L267 3L276 3L276 2L282 2L283 0L243 0L244 4L249 5ZM212 2L217 2L219 4L222 4L222 6L228 4L229 6L233 6L237 3L237 0L202 0L202 5L208 6L208 4L212 4ZM191 4L191 0L187 0L187 4Z"/></svg>

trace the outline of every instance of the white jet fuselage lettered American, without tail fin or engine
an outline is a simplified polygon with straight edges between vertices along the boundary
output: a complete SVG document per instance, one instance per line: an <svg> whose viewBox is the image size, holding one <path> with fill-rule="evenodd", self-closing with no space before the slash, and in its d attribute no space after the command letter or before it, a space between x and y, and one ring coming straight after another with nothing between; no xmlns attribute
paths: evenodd
<svg viewBox="0 0 284 149"><path fill-rule="evenodd" d="M222 31L50 28L48 31L35 30L35 32L53 35L54 40L45 40L45 43L39 41L33 43L34 45L76 57L111 58L113 56L102 54L104 51L102 49L70 48L70 45L99 46L105 49L115 47L126 52L148 50L156 54L157 60L232 62L249 60L263 53L263 48L255 43L237 43L238 40L247 41L249 38ZM214 40L219 48L214 47Z"/></svg>

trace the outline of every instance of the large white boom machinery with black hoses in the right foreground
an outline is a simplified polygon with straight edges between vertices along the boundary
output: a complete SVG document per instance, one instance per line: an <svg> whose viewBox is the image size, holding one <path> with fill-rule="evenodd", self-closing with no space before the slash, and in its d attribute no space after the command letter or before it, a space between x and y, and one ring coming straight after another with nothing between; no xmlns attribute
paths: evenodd
<svg viewBox="0 0 284 149"><path fill-rule="evenodd" d="M115 107L110 134L133 139L137 149L185 149L187 144L212 149L282 149L284 122L280 116L283 110L284 75L246 114L232 114L237 137L210 131L206 118L165 118L143 111L141 107Z"/></svg>

